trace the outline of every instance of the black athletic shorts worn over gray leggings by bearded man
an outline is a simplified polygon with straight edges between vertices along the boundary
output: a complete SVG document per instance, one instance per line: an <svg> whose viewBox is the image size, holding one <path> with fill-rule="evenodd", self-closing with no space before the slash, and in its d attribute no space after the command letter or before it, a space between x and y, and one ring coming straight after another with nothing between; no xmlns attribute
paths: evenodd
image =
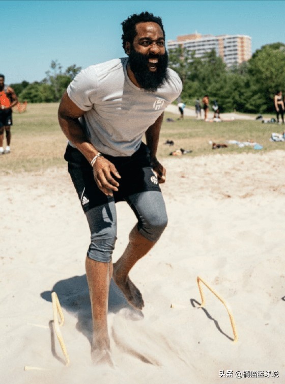
<svg viewBox="0 0 285 384"><path fill-rule="evenodd" d="M118 179L119 190L113 191L113 197L106 196L98 188L94 180L93 168L81 152L70 145L66 148L64 158L68 162L68 172L84 212L106 204L110 200L115 200L116 203L124 201L126 197L140 192L148 190L161 192L151 167L149 148L144 143L141 143L132 156L114 157L104 154L103 156L115 165L121 176L121 179Z"/></svg>

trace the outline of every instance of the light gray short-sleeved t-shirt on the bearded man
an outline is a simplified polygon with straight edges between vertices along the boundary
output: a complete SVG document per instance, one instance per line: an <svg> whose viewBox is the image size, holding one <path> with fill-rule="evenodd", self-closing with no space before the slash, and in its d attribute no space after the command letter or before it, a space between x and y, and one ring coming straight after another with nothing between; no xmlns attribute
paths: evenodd
<svg viewBox="0 0 285 384"><path fill-rule="evenodd" d="M83 69L67 88L70 99L85 111L80 122L89 141L102 153L130 156L144 133L182 91L178 74L156 92L136 87L127 74L128 58Z"/></svg>

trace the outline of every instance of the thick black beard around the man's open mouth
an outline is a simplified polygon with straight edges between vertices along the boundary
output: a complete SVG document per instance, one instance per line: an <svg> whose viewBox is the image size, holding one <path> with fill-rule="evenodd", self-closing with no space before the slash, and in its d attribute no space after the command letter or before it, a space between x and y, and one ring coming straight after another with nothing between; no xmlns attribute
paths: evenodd
<svg viewBox="0 0 285 384"><path fill-rule="evenodd" d="M149 70L149 59L158 59L155 72ZM167 52L164 54L143 54L137 52L133 46L131 46L129 64L137 83L146 91L157 91L157 88L159 88L168 78Z"/></svg>

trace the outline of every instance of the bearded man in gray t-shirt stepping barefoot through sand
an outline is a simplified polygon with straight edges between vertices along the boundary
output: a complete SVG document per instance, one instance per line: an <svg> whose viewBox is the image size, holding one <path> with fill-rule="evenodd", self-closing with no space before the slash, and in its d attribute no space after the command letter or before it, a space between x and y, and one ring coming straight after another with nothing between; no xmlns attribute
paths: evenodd
<svg viewBox="0 0 285 384"><path fill-rule="evenodd" d="M82 70L59 107L59 122L69 140L68 171L91 231L86 258L93 318L91 355L94 363L110 365L110 280L113 277L130 305L143 309L143 297L129 271L167 224L159 187L165 182L165 169L156 152L163 111L182 90L177 73L167 68L161 18L143 12L130 16L122 26L128 57ZM138 222L125 252L112 265L118 201L130 205Z"/></svg>

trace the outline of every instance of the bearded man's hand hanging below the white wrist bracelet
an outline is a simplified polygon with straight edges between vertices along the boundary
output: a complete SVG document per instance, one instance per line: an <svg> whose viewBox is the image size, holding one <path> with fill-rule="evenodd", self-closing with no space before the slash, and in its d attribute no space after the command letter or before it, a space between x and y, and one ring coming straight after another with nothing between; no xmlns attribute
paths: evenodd
<svg viewBox="0 0 285 384"><path fill-rule="evenodd" d="M119 183L115 176L118 179L121 179L119 172L113 163L105 159L103 156L97 158L93 166L93 175L94 179L99 187L99 189L107 196L113 196L113 190L117 191Z"/></svg>

